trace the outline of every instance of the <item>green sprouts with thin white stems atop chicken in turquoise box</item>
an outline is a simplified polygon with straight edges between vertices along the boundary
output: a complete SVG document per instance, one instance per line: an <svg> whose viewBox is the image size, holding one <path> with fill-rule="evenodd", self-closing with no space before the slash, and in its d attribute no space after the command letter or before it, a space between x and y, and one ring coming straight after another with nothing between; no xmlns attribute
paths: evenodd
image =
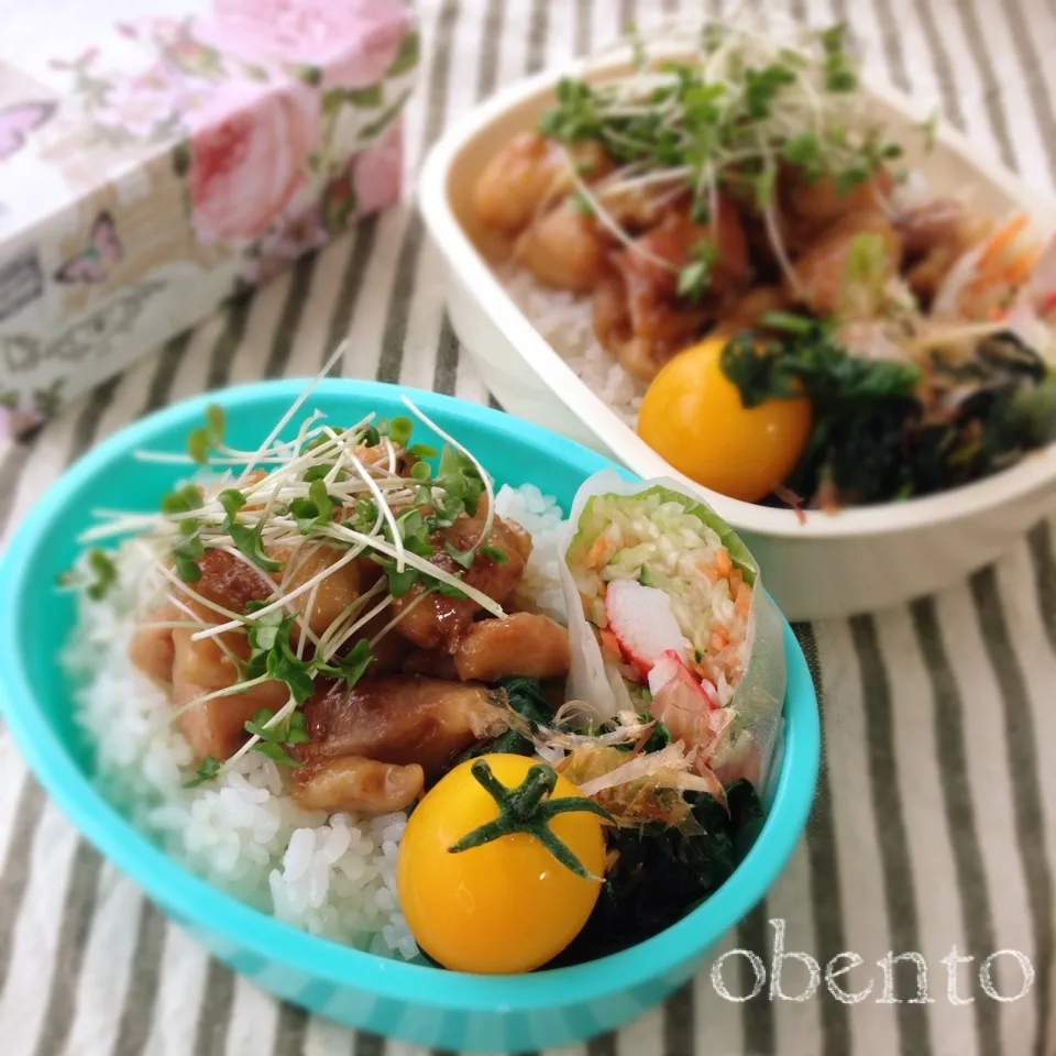
<svg viewBox="0 0 1056 1056"><path fill-rule="evenodd" d="M391 597L383 595L371 602L371 608L376 612L393 597L398 598L417 587L422 595L473 597L492 615L503 615L494 600L469 584L460 584L460 576L451 574L447 561L433 564L430 560L438 546L437 532L463 515L475 515L485 494L491 508L494 498L491 481L457 441L447 438L409 400L405 403L427 427L448 441L436 472L424 461L415 461L408 472L405 463L391 468L388 458L377 463L362 458L364 444L386 440L408 451L414 460L437 455L428 444L410 444L414 426L404 416L377 419L373 424L361 421L342 429L320 424L323 416L316 414L300 424L295 439L278 439L287 419L292 418L287 415L258 450L241 452L223 444L223 414L210 407L205 426L195 430L188 448L195 461L208 465L211 452L219 447L223 458L218 461L223 466L224 479L232 483L217 491L209 490L208 484L187 484L174 490L163 497L161 512L153 519L153 531L142 531L142 514L117 513L105 515L111 524L88 534L98 539L125 535L134 528L142 542L153 543L155 561L163 575L172 580L166 569L170 562L184 583L202 579L201 561L207 554L220 558L227 551L231 556L232 549L268 573L250 575L239 583L234 594L242 590L242 583L252 584L250 590L258 598L244 604L234 598L221 598L220 604L216 604L215 598L201 591L202 602L213 613L200 619L189 610L193 619L189 626L197 623L196 640L218 640L238 672L232 684L204 693L204 697L234 695L265 682L280 682L289 691L289 698L279 711L261 712L246 724L251 739L232 759L224 763L204 760L189 787L216 779L232 760L250 750L286 765L297 765L286 746L307 739L305 717L299 708L316 692L315 679L340 679L351 689L370 669L372 641L361 638L348 647L345 642L363 622L363 605L385 585L389 587ZM152 459L152 452L138 454L145 461ZM164 452L157 460L168 463L173 455ZM241 470L235 469L239 464ZM491 515L482 531L490 520ZM311 549L298 553L301 547ZM342 565L362 553L363 558L382 565L386 573L386 580L372 584L343 606L324 628L315 627L309 614L317 612L312 607L316 592L331 574L331 562L317 568L301 560L305 553L321 547L333 551L334 562ZM497 561L505 558L486 546L479 544L475 549ZM286 561L272 557L276 553L293 562L288 570ZM241 564L241 560L235 562L237 566ZM399 565L404 566L399 569ZM95 576L87 593L91 597L102 596L117 579L112 559L102 551L88 551L85 566ZM221 578L228 574L227 566L221 564L210 571ZM289 574L274 574L287 571ZM239 568L232 574L241 578L248 570ZM84 585L86 581L84 568L61 576L64 584ZM224 608L224 604L231 608ZM402 618L403 612L397 610L374 638L392 631ZM243 641L249 646L244 661L231 653L224 640L235 636L244 636ZM195 703L189 701L184 707Z"/></svg>

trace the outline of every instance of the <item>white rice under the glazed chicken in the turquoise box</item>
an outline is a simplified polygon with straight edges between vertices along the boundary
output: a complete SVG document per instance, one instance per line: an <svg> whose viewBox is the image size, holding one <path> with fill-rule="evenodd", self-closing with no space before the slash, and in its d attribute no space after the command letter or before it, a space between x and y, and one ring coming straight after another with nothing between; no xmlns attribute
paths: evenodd
<svg viewBox="0 0 1056 1056"><path fill-rule="evenodd" d="M531 485L503 487L496 512L534 537L524 607L563 618L557 575L562 514ZM107 799L172 857L216 887L279 920L361 949L411 959L418 949L399 912L396 856L406 815L328 817L286 794L286 772L250 752L219 781L185 789L193 752L169 722L165 693L138 671L129 646L156 590L153 559L130 541L118 582L101 602L78 595L63 657L76 719L96 751Z"/></svg>

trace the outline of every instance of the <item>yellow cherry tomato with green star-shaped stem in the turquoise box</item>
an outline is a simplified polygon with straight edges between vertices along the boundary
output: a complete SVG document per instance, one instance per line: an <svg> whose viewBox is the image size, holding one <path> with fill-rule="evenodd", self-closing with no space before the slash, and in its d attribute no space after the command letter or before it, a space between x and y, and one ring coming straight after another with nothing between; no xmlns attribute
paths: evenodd
<svg viewBox="0 0 1056 1056"><path fill-rule="evenodd" d="M541 767L525 756L481 759L507 790L521 787L532 767ZM575 938L597 902L605 870L603 821L569 811L546 822L592 879L561 865L525 832L452 853L468 834L499 817L495 795L474 776L480 761L455 767L410 815L396 868L400 908L418 945L446 968L531 971ZM551 780L557 777L549 800L585 800L570 781L542 770Z"/></svg>

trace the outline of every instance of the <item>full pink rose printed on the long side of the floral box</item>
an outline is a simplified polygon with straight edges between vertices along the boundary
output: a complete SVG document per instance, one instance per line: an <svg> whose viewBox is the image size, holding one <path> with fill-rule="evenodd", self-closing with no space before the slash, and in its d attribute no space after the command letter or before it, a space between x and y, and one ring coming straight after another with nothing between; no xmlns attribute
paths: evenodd
<svg viewBox="0 0 1056 1056"><path fill-rule="evenodd" d="M319 138L317 100L296 84L224 81L193 120L187 183L197 237L258 239L301 186Z"/></svg>

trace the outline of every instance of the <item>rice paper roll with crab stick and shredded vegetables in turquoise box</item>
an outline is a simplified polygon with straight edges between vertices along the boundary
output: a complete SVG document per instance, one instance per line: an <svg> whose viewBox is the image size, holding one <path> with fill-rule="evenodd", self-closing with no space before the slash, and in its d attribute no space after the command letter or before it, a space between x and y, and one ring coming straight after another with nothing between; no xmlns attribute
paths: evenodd
<svg viewBox="0 0 1056 1056"><path fill-rule="evenodd" d="M570 698L603 719L651 712L723 783L747 777L769 800L783 624L734 530L673 481L604 470L578 492L561 550Z"/></svg>

